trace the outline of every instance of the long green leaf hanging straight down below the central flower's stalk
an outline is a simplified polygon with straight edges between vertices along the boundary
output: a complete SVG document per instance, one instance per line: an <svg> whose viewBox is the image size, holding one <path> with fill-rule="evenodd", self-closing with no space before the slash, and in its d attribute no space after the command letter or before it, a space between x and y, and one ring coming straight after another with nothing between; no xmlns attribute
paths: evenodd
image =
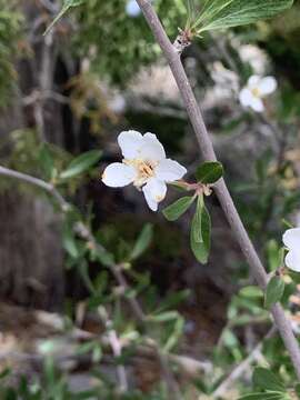
<svg viewBox="0 0 300 400"><path fill-rule="evenodd" d="M199 262L207 263L210 251L211 221L210 221L209 212L204 204L202 207L202 212L201 212L202 242L196 241L196 238L198 236L198 233L196 234L196 232L199 230L199 227L196 227L196 224L199 223L198 221L199 221L199 216L197 217L197 211L196 211L196 216L192 219L191 233L190 233L191 249Z"/></svg>

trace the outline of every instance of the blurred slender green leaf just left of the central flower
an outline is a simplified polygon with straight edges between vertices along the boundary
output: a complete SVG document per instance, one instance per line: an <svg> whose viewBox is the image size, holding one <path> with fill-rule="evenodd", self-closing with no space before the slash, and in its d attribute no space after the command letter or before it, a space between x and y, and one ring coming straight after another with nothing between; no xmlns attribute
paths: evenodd
<svg viewBox="0 0 300 400"><path fill-rule="evenodd" d="M100 160L100 150L91 150L74 158L69 167L60 173L61 179L70 179L86 172Z"/></svg>

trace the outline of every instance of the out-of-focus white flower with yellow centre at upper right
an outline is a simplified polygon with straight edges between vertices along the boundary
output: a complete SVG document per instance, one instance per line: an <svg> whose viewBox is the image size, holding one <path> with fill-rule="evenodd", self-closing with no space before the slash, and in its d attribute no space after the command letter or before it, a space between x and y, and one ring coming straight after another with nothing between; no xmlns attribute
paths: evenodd
<svg viewBox="0 0 300 400"><path fill-rule="evenodd" d="M276 89L277 80L273 77L252 76L249 78L247 87L240 92L240 102L243 107L250 107L257 112L262 112L264 110L262 99Z"/></svg>

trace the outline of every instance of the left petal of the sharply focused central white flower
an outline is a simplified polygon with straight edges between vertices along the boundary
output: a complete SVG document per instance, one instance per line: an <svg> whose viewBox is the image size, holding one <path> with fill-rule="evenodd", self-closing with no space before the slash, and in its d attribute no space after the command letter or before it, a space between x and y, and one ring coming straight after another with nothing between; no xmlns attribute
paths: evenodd
<svg viewBox="0 0 300 400"><path fill-rule="evenodd" d="M121 162L108 166L102 174L102 182L110 188L122 188L133 182L137 172L133 167Z"/></svg>

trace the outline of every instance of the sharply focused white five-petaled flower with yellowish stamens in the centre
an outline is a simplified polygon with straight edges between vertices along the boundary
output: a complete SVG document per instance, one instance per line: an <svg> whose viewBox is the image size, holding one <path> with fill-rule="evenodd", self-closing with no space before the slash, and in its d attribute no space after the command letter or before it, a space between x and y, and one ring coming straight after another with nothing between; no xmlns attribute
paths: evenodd
<svg viewBox="0 0 300 400"><path fill-rule="evenodd" d="M121 132L118 143L123 160L106 168L102 182L111 188L133 183L143 191L150 209L157 211L158 203L167 193L166 183L181 179L187 169L166 158L163 146L153 133L142 136L133 130Z"/></svg>

